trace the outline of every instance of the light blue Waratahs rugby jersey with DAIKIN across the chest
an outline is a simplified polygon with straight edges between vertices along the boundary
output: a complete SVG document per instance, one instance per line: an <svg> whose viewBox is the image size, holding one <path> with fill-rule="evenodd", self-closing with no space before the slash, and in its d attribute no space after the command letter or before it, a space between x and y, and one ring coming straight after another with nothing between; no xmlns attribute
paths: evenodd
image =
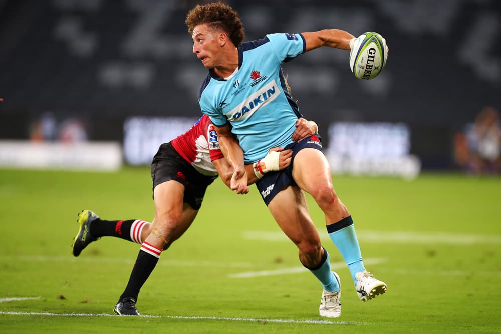
<svg viewBox="0 0 501 334"><path fill-rule="evenodd" d="M209 70L198 95L200 108L216 126L231 123L246 164L292 143L301 114L281 65L304 52L301 34L269 34L238 47L238 70L228 80Z"/></svg>

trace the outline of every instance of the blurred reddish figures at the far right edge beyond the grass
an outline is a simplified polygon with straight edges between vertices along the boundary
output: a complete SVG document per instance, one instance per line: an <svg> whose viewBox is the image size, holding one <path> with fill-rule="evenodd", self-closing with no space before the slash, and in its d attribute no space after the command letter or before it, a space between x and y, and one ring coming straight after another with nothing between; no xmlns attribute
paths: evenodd
<svg viewBox="0 0 501 334"><path fill-rule="evenodd" d="M498 111L493 107L483 108L464 132L455 134L454 149L456 163L470 173L501 172L501 125Z"/></svg>

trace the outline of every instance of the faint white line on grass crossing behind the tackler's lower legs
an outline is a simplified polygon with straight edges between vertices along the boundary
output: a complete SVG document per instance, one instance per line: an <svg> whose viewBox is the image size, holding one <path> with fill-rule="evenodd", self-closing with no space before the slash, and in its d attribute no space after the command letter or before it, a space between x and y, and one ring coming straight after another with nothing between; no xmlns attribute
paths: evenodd
<svg viewBox="0 0 501 334"><path fill-rule="evenodd" d="M79 257L74 256L0 256L0 260L16 260L25 262L85 262L85 263L123 263L134 264L134 258L109 258L109 257ZM210 262L210 261L177 261L165 260L159 261L157 265L177 266L177 267L252 267L248 262Z"/></svg>

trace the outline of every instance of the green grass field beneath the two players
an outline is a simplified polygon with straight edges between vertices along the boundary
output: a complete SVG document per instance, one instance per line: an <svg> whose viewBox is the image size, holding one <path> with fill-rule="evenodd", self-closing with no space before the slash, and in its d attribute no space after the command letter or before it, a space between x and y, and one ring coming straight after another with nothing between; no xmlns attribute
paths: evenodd
<svg viewBox="0 0 501 334"><path fill-rule="evenodd" d="M358 300L310 201L342 284L341 318L321 319L320 283L301 269L257 190L238 196L217 180L144 285L137 307L147 316L118 317L112 309L139 245L102 238L78 258L70 245L82 209L150 221L149 168L0 170L0 332L501 331L500 178L335 176L334 185L353 215L366 267L388 284L385 295Z"/></svg>

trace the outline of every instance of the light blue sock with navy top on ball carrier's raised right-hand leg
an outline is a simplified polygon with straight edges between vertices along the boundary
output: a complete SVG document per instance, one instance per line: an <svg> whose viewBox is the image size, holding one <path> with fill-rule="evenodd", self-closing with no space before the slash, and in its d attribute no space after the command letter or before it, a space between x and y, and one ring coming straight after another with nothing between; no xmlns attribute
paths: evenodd
<svg viewBox="0 0 501 334"><path fill-rule="evenodd" d="M329 232L332 242L334 242L341 256L343 256L350 270L353 282L356 284L357 279L355 278L355 274L365 271L365 267L351 216L337 223L327 225L327 232Z"/></svg>

